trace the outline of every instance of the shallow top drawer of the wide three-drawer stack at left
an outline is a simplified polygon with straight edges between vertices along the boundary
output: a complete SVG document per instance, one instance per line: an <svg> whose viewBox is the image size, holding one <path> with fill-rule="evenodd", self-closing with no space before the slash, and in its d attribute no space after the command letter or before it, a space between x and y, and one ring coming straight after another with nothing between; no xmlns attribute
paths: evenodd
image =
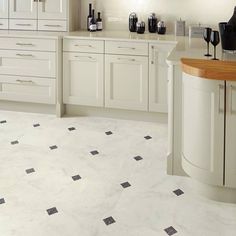
<svg viewBox="0 0 236 236"><path fill-rule="evenodd" d="M0 49L55 52L56 41L53 39L0 37Z"/></svg>

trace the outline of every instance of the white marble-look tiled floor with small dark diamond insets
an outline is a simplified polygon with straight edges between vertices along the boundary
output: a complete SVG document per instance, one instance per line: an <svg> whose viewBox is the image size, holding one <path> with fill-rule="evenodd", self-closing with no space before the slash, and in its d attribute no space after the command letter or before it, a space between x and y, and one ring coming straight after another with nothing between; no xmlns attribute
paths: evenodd
<svg viewBox="0 0 236 236"><path fill-rule="evenodd" d="M166 125L0 111L0 144L0 236L236 234L236 205L166 175Z"/></svg>

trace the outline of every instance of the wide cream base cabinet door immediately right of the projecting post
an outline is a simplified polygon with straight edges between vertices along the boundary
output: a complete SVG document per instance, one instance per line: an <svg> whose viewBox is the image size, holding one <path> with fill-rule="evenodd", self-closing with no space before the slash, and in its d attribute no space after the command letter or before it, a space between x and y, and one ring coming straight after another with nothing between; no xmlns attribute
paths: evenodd
<svg viewBox="0 0 236 236"><path fill-rule="evenodd" d="M64 103L103 106L103 54L65 52L63 58Z"/></svg>

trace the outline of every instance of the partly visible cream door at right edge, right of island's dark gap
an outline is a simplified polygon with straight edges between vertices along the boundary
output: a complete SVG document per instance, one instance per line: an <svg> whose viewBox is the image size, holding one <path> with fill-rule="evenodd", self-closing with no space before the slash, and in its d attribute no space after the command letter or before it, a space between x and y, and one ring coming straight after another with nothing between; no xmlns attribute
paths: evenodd
<svg viewBox="0 0 236 236"><path fill-rule="evenodd" d="M226 88L225 185L236 188L236 82Z"/></svg>

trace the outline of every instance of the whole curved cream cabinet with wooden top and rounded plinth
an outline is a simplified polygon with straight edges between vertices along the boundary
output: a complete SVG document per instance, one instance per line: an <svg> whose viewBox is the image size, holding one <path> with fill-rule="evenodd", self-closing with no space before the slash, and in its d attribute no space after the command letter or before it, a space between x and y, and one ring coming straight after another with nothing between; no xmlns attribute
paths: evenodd
<svg viewBox="0 0 236 236"><path fill-rule="evenodd" d="M181 64L182 167L205 195L236 203L236 62Z"/></svg>

